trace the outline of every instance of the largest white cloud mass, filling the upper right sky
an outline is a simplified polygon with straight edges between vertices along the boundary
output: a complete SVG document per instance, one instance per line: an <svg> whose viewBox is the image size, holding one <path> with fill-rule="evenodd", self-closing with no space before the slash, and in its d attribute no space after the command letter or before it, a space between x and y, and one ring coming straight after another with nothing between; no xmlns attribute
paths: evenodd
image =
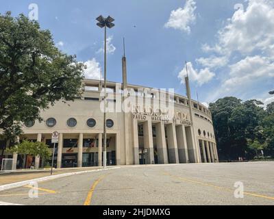
<svg viewBox="0 0 274 219"><path fill-rule="evenodd" d="M274 77L274 1L247 0L246 9L236 8L218 31L216 44L201 46L204 52L215 55L196 60L210 69L233 63L222 69L229 73L219 77L221 85L210 92L209 101L227 95L249 99L256 90L264 92L267 88L262 84Z"/></svg>

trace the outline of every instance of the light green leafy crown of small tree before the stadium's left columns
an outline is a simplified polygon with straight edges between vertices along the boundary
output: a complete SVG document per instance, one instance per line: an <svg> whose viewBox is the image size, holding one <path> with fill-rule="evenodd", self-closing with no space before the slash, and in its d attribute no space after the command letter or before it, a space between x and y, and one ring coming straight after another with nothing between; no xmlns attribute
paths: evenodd
<svg viewBox="0 0 274 219"><path fill-rule="evenodd" d="M43 142L29 142L23 141L21 144L16 144L10 149L7 149L8 153L18 153L20 155L32 155L34 157L39 156L44 159L51 157L51 150L47 144Z"/></svg>

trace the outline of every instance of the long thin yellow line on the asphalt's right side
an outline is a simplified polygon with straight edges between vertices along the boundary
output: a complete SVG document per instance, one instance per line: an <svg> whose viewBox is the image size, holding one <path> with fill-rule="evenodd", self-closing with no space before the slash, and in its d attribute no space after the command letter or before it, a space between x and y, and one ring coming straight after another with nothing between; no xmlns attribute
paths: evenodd
<svg viewBox="0 0 274 219"><path fill-rule="evenodd" d="M196 184L200 184L200 185L210 186L210 187L216 188L218 190L222 190L222 191L234 192L234 190L229 189L229 188L221 187L221 186L214 185L214 184L211 184L211 183L204 183L202 181L197 181L197 180L188 179L188 178L184 178L184 177L178 177L178 176L169 174L169 172L164 172L164 175L169 176L169 177L173 177L173 178L176 178L176 179L181 179L182 181L187 181L187 182L190 182L190 183L196 183ZM252 193L252 192L243 192L243 193L246 194L246 195L249 195L249 196L256 196L256 197L260 197L260 198L266 198L266 199L274 200L274 197L271 197L271 196L264 196L262 194L256 194L256 193Z"/></svg>

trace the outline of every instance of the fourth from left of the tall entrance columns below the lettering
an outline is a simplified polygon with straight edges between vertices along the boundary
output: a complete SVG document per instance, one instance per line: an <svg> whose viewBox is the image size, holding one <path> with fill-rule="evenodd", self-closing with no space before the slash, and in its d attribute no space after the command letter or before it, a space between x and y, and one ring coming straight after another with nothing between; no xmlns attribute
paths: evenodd
<svg viewBox="0 0 274 219"><path fill-rule="evenodd" d="M176 126L176 137L180 164L187 164L188 160L188 146L186 144L186 129L184 125Z"/></svg>

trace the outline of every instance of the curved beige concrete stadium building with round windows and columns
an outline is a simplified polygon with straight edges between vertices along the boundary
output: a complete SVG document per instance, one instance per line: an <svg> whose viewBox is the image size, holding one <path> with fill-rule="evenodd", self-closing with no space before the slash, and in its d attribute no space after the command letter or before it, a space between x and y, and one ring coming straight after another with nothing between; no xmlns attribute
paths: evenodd
<svg viewBox="0 0 274 219"><path fill-rule="evenodd" d="M134 86L127 83L125 57L122 63L123 83L107 82L108 166L219 162L212 115L191 99L188 77L187 96ZM60 101L41 112L45 122L29 121L16 140L45 142L53 151L51 134L58 131L56 168L102 165L102 81L84 79L82 83L81 99ZM10 144L14 143L0 141L0 156L13 159L13 169L50 165L40 157L3 151Z"/></svg>

